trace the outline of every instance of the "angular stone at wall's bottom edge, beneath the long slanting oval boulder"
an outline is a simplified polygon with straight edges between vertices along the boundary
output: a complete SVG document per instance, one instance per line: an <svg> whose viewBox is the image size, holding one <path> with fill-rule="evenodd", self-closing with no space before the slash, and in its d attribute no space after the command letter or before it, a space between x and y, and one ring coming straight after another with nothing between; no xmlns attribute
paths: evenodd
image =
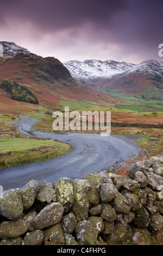
<svg viewBox="0 0 163 256"><path fill-rule="evenodd" d="M65 245L65 236L60 222L44 229L43 235L45 245Z"/></svg>

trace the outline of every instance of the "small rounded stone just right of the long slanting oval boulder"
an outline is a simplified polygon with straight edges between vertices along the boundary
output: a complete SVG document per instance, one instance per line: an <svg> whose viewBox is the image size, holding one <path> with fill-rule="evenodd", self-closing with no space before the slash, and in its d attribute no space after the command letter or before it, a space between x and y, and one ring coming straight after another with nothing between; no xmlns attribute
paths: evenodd
<svg viewBox="0 0 163 256"><path fill-rule="evenodd" d="M72 233L73 230L76 228L77 220L73 213L70 212L70 214L67 214L64 217L62 217L61 223L65 233Z"/></svg>

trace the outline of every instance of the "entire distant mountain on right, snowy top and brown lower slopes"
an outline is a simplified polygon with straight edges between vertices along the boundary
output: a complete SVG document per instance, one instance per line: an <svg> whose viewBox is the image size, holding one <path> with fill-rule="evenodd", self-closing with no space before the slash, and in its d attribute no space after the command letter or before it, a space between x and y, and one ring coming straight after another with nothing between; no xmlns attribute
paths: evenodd
<svg viewBox="0 0 163 256"><path fill-rule="evenodd" d="M64 65L73 77L87 87L148 99L163 98L163 63L154 60L140 64L114 60L74 60Z"/></svg>

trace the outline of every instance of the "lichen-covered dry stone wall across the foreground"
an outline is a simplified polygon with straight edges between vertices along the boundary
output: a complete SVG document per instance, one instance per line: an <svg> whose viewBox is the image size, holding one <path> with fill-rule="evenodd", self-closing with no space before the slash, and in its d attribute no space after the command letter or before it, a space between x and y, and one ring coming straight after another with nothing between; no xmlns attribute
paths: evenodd
<svg viewBox="0 0 163 256"><path fill-rule="evenodd" d="M0 245L151 245L163 228L163 156L127 172L111 167L4 191Z"/></svg>

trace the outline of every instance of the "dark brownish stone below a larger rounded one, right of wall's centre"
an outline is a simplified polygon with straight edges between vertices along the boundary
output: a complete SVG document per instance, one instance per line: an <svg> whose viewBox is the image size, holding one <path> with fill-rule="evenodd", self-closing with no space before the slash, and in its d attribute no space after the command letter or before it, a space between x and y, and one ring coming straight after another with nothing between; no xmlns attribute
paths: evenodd
<svg viewBox="0 0 163 256"><path fill-rule="evenodd" d="M108 203L102 203L101 217L109 222L114 222L117 218L116 211Z"/></svg>

